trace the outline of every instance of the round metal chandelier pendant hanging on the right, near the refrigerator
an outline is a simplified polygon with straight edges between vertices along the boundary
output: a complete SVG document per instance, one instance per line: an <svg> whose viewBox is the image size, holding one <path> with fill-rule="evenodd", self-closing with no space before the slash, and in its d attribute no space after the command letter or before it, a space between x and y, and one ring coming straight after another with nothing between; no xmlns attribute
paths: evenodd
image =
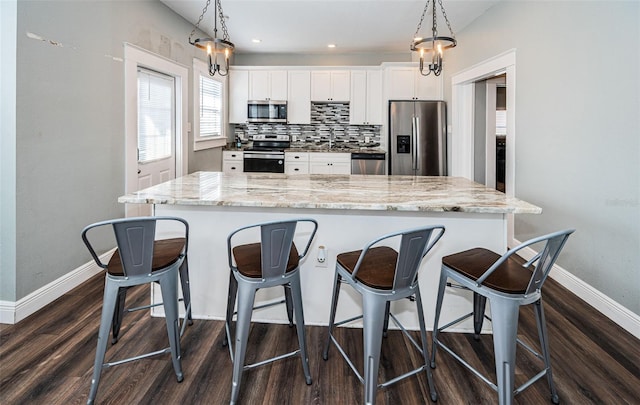
<svg viewBox="0 0 640 405"><path fill-rule="evenodd" d="M432 6L431 10L433 17L433 23L431 25L431 37L424 38L420 36L420 28L422 28L422 22L424 21L424 17L427 14L427 11L429 10L429 4L431 4ZM453 29L451 29L449 18L447 18L447 13L444 11L442 0L438 0L438 4L440 4L442 16L444 17L444 21L447 23L447 27L449 27L451 36L445 37L438 35L436 0L427 0L427 4L425 4L424 10L422 11L422 16L420 17L420 22L418 23L418 28L416 29L416 33L413 36L413 42L411 42L411 50L420 52L420 74L422 74L423 76L428 76L429 74L431 74L431 72L433 72L433 74L436 76L440 76L440 73L442 73L443 51L445 49L453 48L457 45L456 36L453 33ZM425 54L429 53L431 54L431 63L425 66Z"/></svg>

